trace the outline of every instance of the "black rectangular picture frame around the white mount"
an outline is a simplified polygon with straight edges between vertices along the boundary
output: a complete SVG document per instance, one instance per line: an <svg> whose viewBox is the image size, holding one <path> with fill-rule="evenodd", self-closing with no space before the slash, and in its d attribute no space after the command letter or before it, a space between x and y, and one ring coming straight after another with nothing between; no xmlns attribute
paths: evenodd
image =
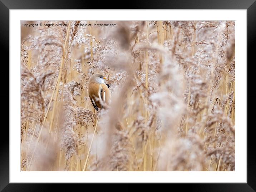
<svg viewBox="0 0 256 192"><path fill-rule="evenodd" d="M246 9L247 10L247 63L253 64L253 45L255 45L256 34L256 0L175 0L175 1L129 1L125 4L125 9ZM108 5L108 6L107 6ZM104 1L100 5L104 9L109 7L110 2ZM118 5L118 4L116 4ZM82 0L0 0L0 36L1 36L1 55L8 55L9 53L9 10L10 9L100 9L97 2L90 1L87 3ZM119 5L119 7L121 7ZM109 7L113 9L113 7ZM19 32L17 32L19 35ZM9 57L5 63L9 63ZM246 65L246 63L244 63ZM2 63L6 67L8 64ZM247 65L248 66L248 65ZM9 71L9 68L8 68ZM253 77L253 76L248 76ZM253 80L252 80L253 81ZM255 81L255 80L254 80ZM254 82L253 81L253 82ZM248 81L251 82L251 81ZM255 98L253 92L248 96ZM8 97L9 92L1 93L1 99ZM11 101L9 100L9 103ZM11 115L11 114L9 114ZM253 113L248 113L248 116L252 116ZM247 128L243 128L247 129ZM247 129L247 183L216 183L216 184L175 184L178 185L179 190L189 188L189 191L255 191L256 190L256 161L255 161L255 149L253 149L255 143L253 142L255 135L253 134L253 126L248 126ZM17 128L17 130L19 130ZM0 140L0 191L47 191L52 188L52 184L13 184L9 183L9 130L6 126L2 126L1 130L2 138ZM4 135L4 136L3 136ZM8 136L7 136L8 135ZM88 185L88 184L87 184ZM150 185L149 185L150 186ZM65 191L69 189L69 186L63 184L61 188L58 185L58 189L64 188ZM72 186L74 190L74 186ZM72 191L73 191L72 190Z"/></svg>

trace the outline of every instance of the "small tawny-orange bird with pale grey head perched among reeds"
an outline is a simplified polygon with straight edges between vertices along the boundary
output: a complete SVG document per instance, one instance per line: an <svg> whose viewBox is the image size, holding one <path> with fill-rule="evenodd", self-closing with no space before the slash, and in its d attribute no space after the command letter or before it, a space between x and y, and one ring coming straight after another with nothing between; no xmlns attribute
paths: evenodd
<svg viewBox="0 0 256 192"><path fill-rule="evenodd" d="M106 77L101 73L95 73L89 79L87 92L96 111L109 104L110 91L104 79Z"/></svg>

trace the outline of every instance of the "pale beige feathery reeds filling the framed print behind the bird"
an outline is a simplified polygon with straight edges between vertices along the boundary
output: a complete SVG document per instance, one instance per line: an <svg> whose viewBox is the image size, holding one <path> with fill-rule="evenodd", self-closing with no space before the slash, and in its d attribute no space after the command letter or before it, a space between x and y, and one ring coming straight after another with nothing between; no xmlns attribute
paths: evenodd
<svg viewBox="0 0 256 192"><path fill-rule="evenodd" d="M49 25L21 28L21 171L235 171L234 21L35 22ZM112 95L99 111L96 72Z"/></svg>

